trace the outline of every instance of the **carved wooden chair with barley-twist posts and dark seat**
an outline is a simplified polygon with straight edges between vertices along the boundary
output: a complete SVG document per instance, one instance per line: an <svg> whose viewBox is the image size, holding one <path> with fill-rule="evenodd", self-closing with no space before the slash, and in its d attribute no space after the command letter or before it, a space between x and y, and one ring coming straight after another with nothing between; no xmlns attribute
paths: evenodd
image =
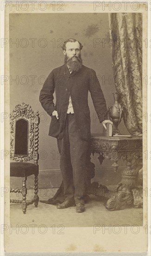
<svg viewBox="0 0 151 256"><path fill-rule="evenodd" d="M25 214L27 205L34 202L38 207L38 139L39 139L39 114L25 103L16 105L10 115L10 175L11 177L24 177L22 189L10 189L10 192L21 193L22 200L10 200L10 202L21 203ZM33 160L34 163L31 163ZM29 161L29 162L28 162ZM34 197L26 200L26 180L30 175L34 177Z"/></svg>

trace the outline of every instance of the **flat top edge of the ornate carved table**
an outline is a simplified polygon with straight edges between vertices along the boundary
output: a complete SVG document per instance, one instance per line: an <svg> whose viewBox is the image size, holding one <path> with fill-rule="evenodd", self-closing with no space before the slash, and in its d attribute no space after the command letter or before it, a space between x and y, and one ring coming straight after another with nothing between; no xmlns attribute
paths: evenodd
<svg viewBox="0 0 151 256"><path fill-rule="evenodd" d="M104 136L101 133L92 133L91 134L91 139L101 139L101 140L106 140L106 141L137 141L137 140L142 140L142 136L132 136L132 137L107 137Z"/></svg>

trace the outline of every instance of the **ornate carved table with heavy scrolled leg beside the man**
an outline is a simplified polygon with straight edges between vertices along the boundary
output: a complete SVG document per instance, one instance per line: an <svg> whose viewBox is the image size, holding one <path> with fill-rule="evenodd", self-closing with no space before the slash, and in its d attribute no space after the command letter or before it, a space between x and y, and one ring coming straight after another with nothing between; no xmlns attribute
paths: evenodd
<svg viewBox="0 0 151 256"><path fill-rule="evenodd" d="M116 172L118 160L126 161L126 168L122 170L122 180L116 189L117 195L108 199L108 210L119 210L133 204L134 181L138 170L132 168L132 160L142 161L142 137L105 137L101 134L91 135L91 152L99 153L99 161L106 158L113 161L112 167Z"/></svg>

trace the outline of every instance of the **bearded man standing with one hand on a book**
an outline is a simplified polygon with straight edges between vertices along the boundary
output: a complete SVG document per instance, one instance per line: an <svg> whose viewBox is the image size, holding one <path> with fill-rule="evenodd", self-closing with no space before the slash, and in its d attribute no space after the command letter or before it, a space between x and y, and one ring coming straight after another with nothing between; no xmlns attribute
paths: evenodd
<svg viewBox="0 0 151 256"><path fill-rule="evenodd" d="M51 116L49 135L57 138L61 155L65 201L58 209L75 205L83 212L86 156L90 140L90 111L88 91L91 94L99 121L106 128L106 101L93 69L82 65L82 44L70 38L63 44L64 65L51 71L40 92L39 100ZM56 104L53 94L56 93Z"/></svg>

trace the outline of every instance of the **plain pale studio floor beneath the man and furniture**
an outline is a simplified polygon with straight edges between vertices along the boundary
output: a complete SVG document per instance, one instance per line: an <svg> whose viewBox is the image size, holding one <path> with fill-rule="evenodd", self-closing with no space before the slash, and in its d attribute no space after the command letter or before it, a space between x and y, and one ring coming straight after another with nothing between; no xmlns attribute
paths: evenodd
<svg viewBox="0 0 151 256"><path fill-rule="evenodd" d="M29 189L27 199L31 199L33 190ZM40 189L39 199L48 200L51 198L57 189ZM20 199L21 195L12 194L12 199ZM11 203L10 205L10 223L12 226L17 224L30 225L44 224L47 227L52 225L63 225L64 227L93 227L96 224L104 226L113 225L143 225L143 209L142 208L127 208L117 211L108 211L105 208L108 195L94 196L90 195L90 202L85 204L85 212L76 213L76 207L68 209L57 209L56 205L38 203L38 208L34 204L27 207L26 214L22 212L21 204Z"/></svg>

